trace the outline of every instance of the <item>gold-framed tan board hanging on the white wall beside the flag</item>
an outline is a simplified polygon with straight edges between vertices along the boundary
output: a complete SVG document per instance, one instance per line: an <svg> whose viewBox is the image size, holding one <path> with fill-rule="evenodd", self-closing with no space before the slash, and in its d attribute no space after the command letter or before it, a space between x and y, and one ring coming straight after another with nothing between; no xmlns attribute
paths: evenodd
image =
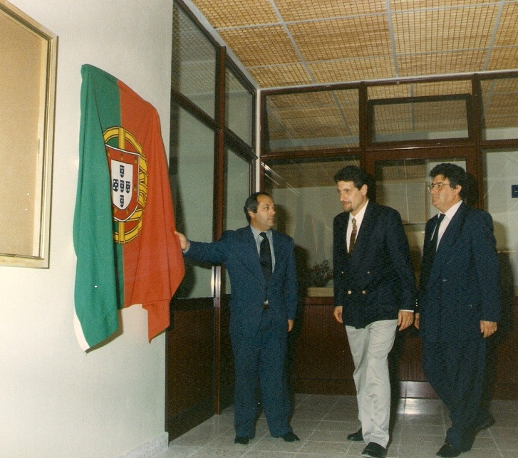
<svg viewBox="0 0 518 458"><path fill-rule="evenodd" d="M58 37L0 0L0 266L48 268Z"/></svg>

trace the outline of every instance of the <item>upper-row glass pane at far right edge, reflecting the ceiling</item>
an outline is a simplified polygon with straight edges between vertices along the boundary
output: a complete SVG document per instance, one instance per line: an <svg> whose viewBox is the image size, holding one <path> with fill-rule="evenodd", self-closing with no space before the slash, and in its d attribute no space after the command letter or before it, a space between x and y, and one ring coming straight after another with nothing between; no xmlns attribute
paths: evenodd
<svg viewBox="0 0 518 458"><path fill-rule="evenodd" d="M518 78L482 80L482 138L518 138Z"/></svg>

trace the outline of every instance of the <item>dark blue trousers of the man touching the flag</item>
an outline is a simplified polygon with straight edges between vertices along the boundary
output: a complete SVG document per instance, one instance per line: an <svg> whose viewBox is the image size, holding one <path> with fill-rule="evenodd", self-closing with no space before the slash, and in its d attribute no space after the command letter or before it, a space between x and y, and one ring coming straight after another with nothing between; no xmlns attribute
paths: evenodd
<svg viewBox="0 0 518 458"><path fill-rule="evenodd" d="M284 360L288 340L287 323L271 319L266 310L256 335L231 334L235 366L234 427L237 437L254 437L257 415L257 384L270 434L289 432L289 396Z"/></svg>

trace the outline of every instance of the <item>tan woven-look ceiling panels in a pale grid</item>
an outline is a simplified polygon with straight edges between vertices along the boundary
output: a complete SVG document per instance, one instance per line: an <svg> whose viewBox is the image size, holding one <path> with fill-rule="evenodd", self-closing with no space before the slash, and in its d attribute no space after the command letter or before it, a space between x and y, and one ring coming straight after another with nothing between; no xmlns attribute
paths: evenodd
<svg viewBox="0 0 518 458"><path fill-rule="evenodd" d="M192 0L261 89L518 68L517 0Z"/></svg>

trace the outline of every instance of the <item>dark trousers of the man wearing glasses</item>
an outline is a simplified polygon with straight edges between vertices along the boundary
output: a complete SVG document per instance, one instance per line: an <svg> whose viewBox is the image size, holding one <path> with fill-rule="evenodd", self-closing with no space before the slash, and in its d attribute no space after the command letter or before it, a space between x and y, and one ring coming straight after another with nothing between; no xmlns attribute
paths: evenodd
<svg viewBox="0 0 518 458"><path fill-rule="evenodd" d="M423 340L423 370L450 412L446 442L470 449L482 411L486 342L483 338L447 343Z"/></svg>

